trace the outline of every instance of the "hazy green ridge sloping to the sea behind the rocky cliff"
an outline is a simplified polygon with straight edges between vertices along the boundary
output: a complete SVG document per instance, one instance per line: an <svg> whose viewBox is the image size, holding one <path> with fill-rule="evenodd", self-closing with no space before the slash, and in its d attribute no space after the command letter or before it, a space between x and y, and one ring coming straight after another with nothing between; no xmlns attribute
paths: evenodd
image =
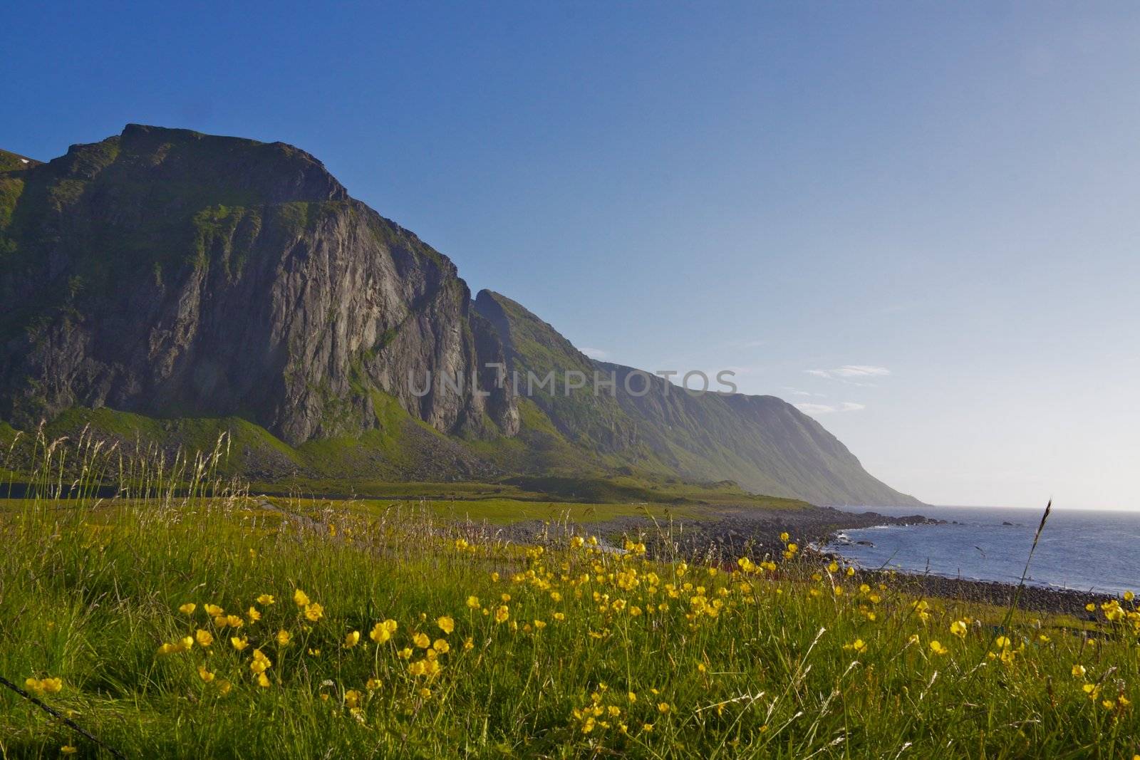
<svg viewBox="0 0 1140 760"><path fill-rule="evenodd" d="M519 373L520 397L549 423L524 425L520 434L536 450L552 452L548 467L568 458L567 447L560 446L565 441L611 465L700 481L733 480L751 491L816 504L920 504L868 474L834 435L781 399L690 395L658 376L628 377L637 370L591 360L505 296L482 291L475 308L498 330L507 365ZM537 382L528 385L552 370L557 379L553 392ZM581 373L587 387L567 394L567 371ZM612 390L598 384L595 393L595 373L603 383L616 379Z"/></svg>

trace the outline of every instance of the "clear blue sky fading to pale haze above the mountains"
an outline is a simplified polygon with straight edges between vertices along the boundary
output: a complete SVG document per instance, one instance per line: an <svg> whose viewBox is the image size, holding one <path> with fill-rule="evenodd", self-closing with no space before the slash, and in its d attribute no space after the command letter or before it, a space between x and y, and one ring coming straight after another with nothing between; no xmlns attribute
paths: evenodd
<svg viewBox="0 0 1140 760"><path fill-rule="evenodd" d="M41 5L9 150L292 142L472 291L926 501L1140 508L1140 6Z"/></svg>

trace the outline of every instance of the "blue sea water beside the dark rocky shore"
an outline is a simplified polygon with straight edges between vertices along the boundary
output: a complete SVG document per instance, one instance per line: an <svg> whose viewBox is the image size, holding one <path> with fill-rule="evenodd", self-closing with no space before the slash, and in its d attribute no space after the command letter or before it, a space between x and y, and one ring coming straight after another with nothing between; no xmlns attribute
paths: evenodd
<svg viewBox="0 0 1140 760"><path fill-rule="evenodd" d="M951 523L841 531L828 549L862 567L1013 583L1021 578L1043 512L1003 507L847 509L895 516L918 513ZM1026 582L1114 594L1140 591L1140 513L1053 509Z"/></svg>

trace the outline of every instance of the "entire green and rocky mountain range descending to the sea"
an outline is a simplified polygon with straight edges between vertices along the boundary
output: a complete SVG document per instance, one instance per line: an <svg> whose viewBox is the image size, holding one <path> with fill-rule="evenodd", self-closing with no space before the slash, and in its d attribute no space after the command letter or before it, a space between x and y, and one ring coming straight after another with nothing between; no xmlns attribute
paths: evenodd
<svg viewBox="0 0 1140 760"><path fill-rule="evenodd" d="M262 477L679 476L917 504L774 397L628 392L635 370L473 301L280 142L130 124L48 163L0 152L0 439L41 419L187 446L228 430ZM567 370L616 391L526 387Z"/></svg>

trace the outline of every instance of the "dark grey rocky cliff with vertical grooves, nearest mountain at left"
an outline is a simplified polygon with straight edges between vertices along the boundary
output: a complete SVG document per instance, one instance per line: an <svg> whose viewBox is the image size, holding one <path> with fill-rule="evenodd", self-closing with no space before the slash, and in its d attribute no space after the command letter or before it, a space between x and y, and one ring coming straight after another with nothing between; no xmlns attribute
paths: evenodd
<svg viewBox="0 0 1140 760"><path fill-rule="evenodd" d="M129 125L0 182L0 418L239 415L298 444L374 426L383 391L518 430L508 387L472 391L503 352L455 265L302 150Z"/></svg>

